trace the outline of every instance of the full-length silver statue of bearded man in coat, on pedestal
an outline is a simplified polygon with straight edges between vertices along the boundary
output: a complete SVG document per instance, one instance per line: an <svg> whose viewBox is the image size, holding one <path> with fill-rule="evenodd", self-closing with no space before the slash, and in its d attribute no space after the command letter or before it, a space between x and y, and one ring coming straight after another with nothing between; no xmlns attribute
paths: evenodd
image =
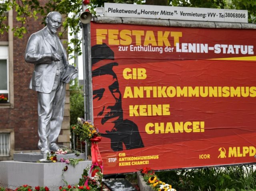
<svg viewBox="0 0 256 191"><path fill-rule="evenodd" d="M34 64L29 88L38 96L38 147L41 153L57 151L64 114L66 83L76 78L77 68L67 62L66 50L56 35L62 16L50 12L46 27L28 40L25 60Z"/></svg>

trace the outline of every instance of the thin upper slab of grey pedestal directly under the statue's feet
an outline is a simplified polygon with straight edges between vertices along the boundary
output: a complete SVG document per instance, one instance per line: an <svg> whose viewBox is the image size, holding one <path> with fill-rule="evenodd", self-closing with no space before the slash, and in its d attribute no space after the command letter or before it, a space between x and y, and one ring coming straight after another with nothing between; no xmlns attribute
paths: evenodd
<svg viewBox="0 0 256 191"><path fill-rule="evenodd" d="M85 153L80 153L79 156L76 156L74 153L70 154L57 154L57 160L60 161L60 158L64 159L86 159ZM23 162L37 162L40 159L43 159L44 155L41 153L14 153L14 161L23 161Z"/></svg>

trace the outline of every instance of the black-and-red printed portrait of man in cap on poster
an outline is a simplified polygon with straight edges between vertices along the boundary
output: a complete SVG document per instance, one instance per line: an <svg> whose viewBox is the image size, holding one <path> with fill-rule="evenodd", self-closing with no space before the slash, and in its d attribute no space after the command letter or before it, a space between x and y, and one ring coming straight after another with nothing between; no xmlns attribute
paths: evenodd
<svg viewBox="0 0 256 191"><path fill-rule="evenodd" d="M91 51L93 101L97 105L94 105L93 112L94 116L100 117L101 126L98 128L102 137L110 139L113 151L144 147L138 126L123 117L122 95L113 70L118 66L114 52L106 44L92 46ZM94 84L97 81L104 83Z"/></svg>

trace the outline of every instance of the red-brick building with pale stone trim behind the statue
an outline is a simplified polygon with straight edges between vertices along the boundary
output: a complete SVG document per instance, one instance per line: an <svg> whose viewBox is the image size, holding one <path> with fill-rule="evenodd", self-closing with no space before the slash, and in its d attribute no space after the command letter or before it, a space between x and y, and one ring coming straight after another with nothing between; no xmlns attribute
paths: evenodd
<svg viewBox="0 0 256 191"><path fill-rule="evenodd" d="M28 18L28 32L22 39L18 39L11 30L19 25L15 19L16 12L11 10L6 12L6 16L10 30L0 36L0 96L3 94L8 101L0 101L0 161L11 160L13 153L39 151L37 93L28 88L34 64L26 63L24 54L30 35L42 29L44 25L41 24L41 17L38 20ZM68 85L66 89L64 120L58 144L69 147Z"/></svg>

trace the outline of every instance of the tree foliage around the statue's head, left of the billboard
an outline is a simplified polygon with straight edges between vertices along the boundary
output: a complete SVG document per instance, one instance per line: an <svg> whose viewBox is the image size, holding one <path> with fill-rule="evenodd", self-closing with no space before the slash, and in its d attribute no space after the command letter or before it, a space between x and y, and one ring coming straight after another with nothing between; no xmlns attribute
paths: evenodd
<svg viewBox="0 0 256 191"><path fill-rule="evenodd" d="M7 16L6 12L13 9L17 12L16 20L20 23L20 26L13 28L14 36L22 38L23 34L27 32L26 26L28 26L28 18L38 19L38 15L43 16L42 23L46 18L46 15L51 11L58 11L65 18L62 23L64 32L68 31L70 28L70 34L78 34L80 31L79 14L82 10L82 0L49 0L47 3L40 0L6 0L4 3L0 4L0 35L4 32L8 32L10 28L6 22ZM59 35L62 37L64 33L60 32ZM68 42L65 42L68 44ZM68 46L68 54L70 58L74 57L72 52L77 52L76 55L81 55L80 46L76 46L81 43L78 38L70 39L70 44L74 46Z"/></svg>

